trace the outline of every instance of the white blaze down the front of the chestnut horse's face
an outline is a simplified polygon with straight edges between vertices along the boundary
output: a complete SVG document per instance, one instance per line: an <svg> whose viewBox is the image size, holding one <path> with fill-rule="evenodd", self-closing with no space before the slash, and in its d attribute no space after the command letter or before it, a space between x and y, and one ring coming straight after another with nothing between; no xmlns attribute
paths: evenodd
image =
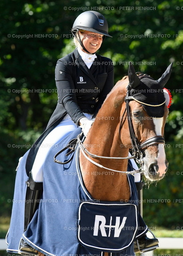
<svg viewBox="0 0 183 256"><path fill-rule="evenodd" d="M153 123L155 125L155 132L157 136L162 136L161 130L163 126L163 117L161 118L153 118ZM157 165L159 166L159 176L161 177L163 174L165 174L166 170L166 156L165 156L165 149L164 144L158 144L158 155L157 155Z"/></svg>

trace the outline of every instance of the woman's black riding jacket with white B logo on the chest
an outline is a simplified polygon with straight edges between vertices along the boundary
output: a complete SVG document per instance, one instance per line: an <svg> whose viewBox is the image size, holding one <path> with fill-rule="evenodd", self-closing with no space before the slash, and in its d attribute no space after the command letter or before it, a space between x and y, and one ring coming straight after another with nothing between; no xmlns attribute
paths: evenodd
<svg viewBox="0 0 183 256"><path fill-rule="evenodd" d="M113 63L109 58L96 54L90 69L78 50L58 60L55 69L58 104L48 123L62 120L68 113L78 125L83 113L94 116L113 88Z"/></svg>

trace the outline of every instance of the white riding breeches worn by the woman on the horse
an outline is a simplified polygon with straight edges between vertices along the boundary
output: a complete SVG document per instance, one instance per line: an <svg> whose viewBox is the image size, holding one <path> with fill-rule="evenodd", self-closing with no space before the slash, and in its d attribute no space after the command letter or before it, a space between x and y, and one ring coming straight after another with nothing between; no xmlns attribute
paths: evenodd
<svg viewBox="0 0 183 256"><path fill-rule="evenodd" d="M92 119L92 114L84 114L89 120ZM64 119L58 124L43 140L40 145L34 164L32 166L32 178L36 182L43 181L43 165L48 156L49 150L57 144L60 140L66 137L68 134L77 129L76 124L71 120L70 116L67 114ZM129 153L129 156L130 153ZM131 159L132 166L135 170L138 169L137 164L133 159ZM140 174L135 174L135 182L139 182Z"/></svg>

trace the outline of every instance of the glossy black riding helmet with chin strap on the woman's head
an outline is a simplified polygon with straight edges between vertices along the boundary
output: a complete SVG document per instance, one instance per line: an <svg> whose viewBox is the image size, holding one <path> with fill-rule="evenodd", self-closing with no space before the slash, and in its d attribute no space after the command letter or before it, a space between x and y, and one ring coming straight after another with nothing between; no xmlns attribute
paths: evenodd
<svg viewBox="0 0 183 256"><path fill-rule="evenodd" d="M102 34L104 35L103 39L105 38L105 36L109 36L107 20L101 13L95 12L95 11L83 12L76 18L72 26L72 34L78 40L82 48L86 52L88 52L88 50L86 50L86 48L82 44L80 36L79 36L79 39L76 37L76 32L80 29ZM112 36L109 36L109 37L112 37ZM88 53L91 54L91 52L88 52Z"/></svg>

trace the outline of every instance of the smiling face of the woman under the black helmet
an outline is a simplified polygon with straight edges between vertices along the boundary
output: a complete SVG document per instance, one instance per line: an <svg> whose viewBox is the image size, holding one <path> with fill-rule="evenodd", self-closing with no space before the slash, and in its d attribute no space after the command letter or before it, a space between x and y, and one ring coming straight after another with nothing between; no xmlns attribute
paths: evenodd
<svg viewBox="0 0 183 256"><path fill-rule="evenodd" d="M79 31L79 33L80 33L81 41L84 47L88 50L88 52L95 53L100 48L103 35L98 33L93 33L90 31L84 31L84 32ZM82 51L84 50L82 49Z"/></svg>

